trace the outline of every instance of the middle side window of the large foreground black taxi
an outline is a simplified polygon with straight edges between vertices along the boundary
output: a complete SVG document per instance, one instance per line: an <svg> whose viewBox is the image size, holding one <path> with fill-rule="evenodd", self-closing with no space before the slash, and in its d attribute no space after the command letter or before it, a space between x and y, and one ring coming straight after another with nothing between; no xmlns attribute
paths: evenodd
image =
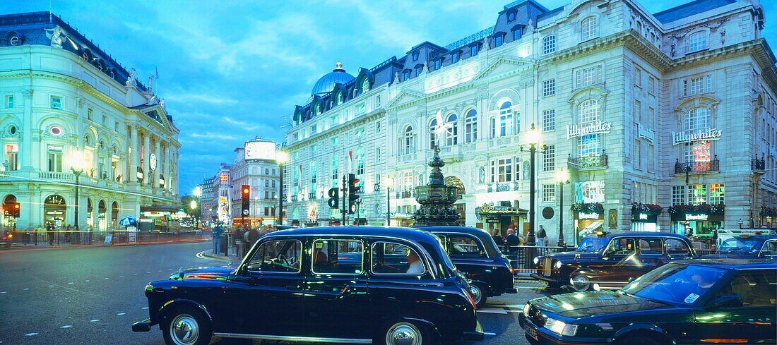
<svg viewBox="0 0 777 345"><path fill-rule="evenodd" d="M315 240L311 257L313 273L361 274L363 252L359 240Z"/></svg>

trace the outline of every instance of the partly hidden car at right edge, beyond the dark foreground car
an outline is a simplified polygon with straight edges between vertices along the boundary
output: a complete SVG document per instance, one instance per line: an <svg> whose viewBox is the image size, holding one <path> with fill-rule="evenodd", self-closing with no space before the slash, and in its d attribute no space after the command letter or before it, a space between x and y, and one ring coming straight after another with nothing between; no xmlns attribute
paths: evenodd
<svg viewBox="0 0 777 345"><path fill-rule="evenodd" d="M764 257L777 259L777 235L761 233L720 235L719 246L715 254L703 256L704 258L746 258Z"/></svg>

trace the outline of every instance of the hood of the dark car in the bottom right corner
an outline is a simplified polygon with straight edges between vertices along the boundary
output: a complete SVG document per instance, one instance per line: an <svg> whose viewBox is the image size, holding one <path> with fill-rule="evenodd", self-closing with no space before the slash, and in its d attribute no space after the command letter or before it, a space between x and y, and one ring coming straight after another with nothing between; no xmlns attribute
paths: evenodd
<svg viewBox="0 0 777 345"><path fill-rule="evenodd" d="M667 305L620 292L574 292L537 298L531 301L536 308L566 316L581 318L618 312L636 312L666 308Z"/></svg>

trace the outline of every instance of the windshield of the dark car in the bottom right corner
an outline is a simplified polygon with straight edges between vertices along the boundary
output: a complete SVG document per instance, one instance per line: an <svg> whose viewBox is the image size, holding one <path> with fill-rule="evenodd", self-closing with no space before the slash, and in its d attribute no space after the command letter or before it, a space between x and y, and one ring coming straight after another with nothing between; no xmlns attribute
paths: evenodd
<svg viewBox="0 0 777 345"><path fill-rule="evenodd" d="M692 305L713 290L726 270L688 264L667 264L621 289L627 295L674 305Z"/></svg>

